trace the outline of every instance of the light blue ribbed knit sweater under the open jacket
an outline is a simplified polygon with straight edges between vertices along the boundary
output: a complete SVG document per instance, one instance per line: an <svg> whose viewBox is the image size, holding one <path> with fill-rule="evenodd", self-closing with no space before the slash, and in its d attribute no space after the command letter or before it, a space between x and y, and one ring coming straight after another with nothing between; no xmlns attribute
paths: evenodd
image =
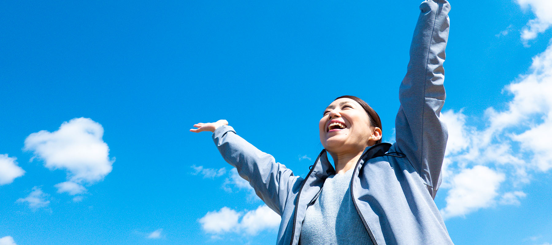
<svg viewBox="0 0 552 245"><path fill-rule="evenodd" d="M307 207L300 245L373 244L353 205L352 175L353 169L326 179L318 199Z"/></svg>

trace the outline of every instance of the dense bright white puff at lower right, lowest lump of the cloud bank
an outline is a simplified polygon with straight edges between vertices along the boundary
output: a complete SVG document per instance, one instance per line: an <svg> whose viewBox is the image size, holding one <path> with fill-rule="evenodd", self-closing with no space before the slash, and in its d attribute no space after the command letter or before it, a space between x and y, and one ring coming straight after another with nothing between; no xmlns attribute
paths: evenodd
<svg viewBox="0 0 552 245"><path fill-rule="evenodd" d="M463 216L481 207L489 207L498 195L497 190L505 175L485 166L464 169L452 180L447 206L440 210L444 219Z"/></svg>

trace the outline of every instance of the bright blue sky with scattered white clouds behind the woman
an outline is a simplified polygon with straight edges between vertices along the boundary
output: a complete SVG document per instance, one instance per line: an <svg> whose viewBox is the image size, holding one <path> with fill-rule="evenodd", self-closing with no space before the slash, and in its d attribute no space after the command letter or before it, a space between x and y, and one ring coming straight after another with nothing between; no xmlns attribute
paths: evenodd
<svg viewBox="0 0 552 245"><path fill-rule="evenodd" d="M188 130L226 119L305 175L351 94L392 142L418 3L3 2L0 244L274 243L277 215ZM436 204L455 244L550 245L552 5L451 5Z"/></svg>

